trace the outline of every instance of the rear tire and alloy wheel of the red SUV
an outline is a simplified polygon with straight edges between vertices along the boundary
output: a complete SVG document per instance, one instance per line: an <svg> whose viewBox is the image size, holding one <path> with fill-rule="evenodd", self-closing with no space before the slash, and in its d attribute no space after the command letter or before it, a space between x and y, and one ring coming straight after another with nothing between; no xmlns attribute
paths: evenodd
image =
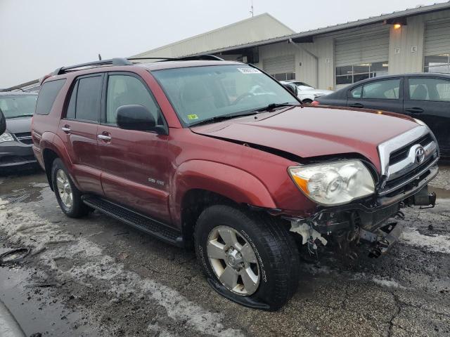
<svg viewBox="0 0 450 337"><path fill-rule="evenodd" d="M65 192L72 192L72 198L66 199L65 195L63 196L60 193L60 188L58 187L58 178L61 178L62 175L65 176L66 183L64 184ZM58 200L58 204L60 209L65 213L69 218L81 218L82 216L86 216L89 213L89 206L82 201L82 192L80 192L77 187L75 187L68 170L65 168L63 161L57 158L53 161L51 166L51 183L53 184L53 190L56 195L56 200ZM65 200L63 201L64 198Z"/></svg>

